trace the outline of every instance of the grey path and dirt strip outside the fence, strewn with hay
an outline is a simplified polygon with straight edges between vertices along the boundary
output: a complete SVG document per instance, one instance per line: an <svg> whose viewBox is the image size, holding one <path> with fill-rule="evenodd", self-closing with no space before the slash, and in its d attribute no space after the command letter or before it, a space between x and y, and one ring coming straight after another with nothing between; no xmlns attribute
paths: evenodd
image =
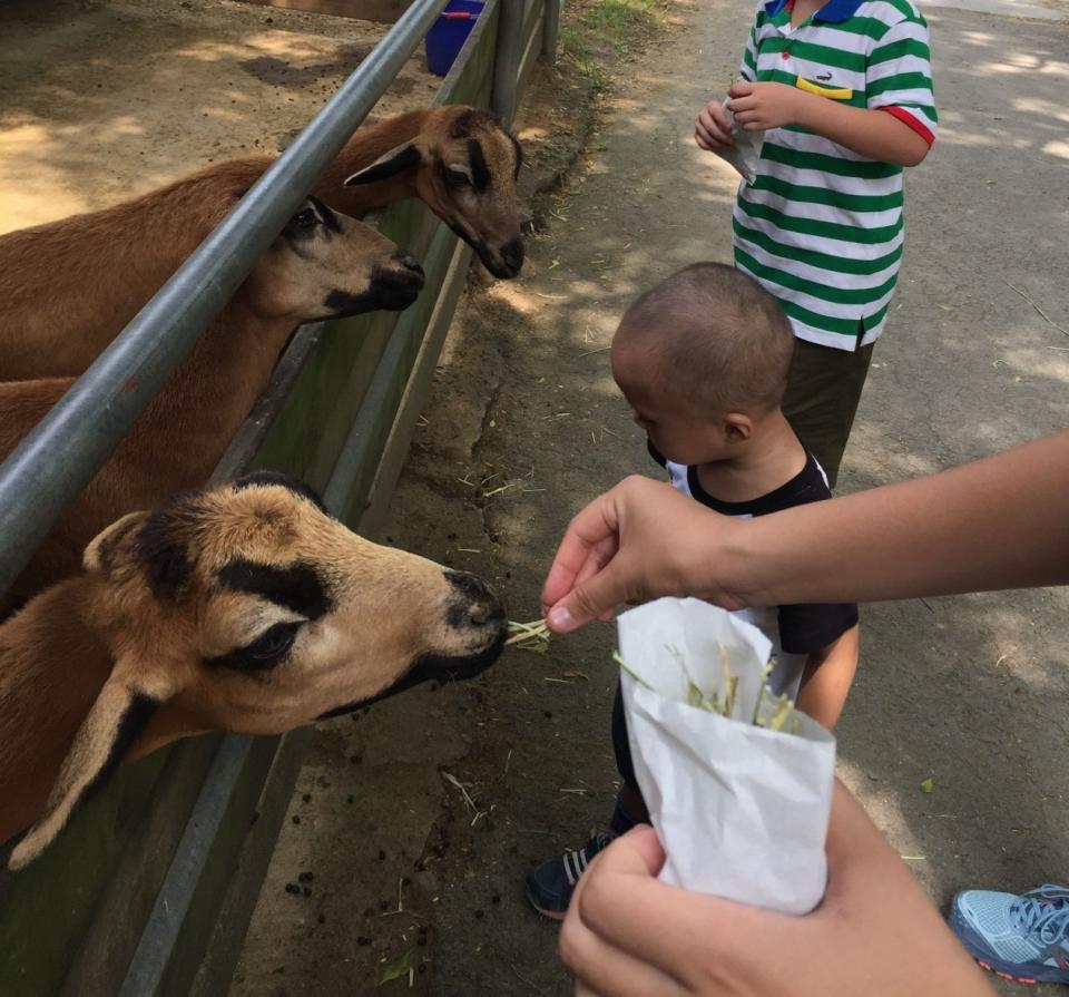
<svg viewBox="0 0 1069 997"><path fill-rule="evenodd" d="M942 134L908 180L906 262L841 491L1069 420L1069 27L1057 4L1047 21L999 9L926 9ZM513 618L537 615L568 518L655 470L609 377L620 312L680 265L730 258L736 179L692 131L749 8L671 11L616 67L522 278L469 295L394 502L394 543L496 579ZM863 608L840 772L943 909L961 888L1065 878L1067 609L1065 589ZM608 818L612 647L592 626L323 725L232 997L570 994L522 879Z"/></svg>

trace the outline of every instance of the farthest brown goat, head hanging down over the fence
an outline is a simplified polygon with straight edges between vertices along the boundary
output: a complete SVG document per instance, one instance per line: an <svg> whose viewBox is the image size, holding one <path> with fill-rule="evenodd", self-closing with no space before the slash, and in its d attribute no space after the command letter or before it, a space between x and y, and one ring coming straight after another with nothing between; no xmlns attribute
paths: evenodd
<svg viewBox="0 0 1069 997"><path fill-rule="evenodd" d="M217 163L124 204L0 236L0 380L82 373L273 162ZM439 107L357 130L313 194L355 217L420 197L491 273L511 277L523 262L519 166L519 143L498 118Z"/></svg>

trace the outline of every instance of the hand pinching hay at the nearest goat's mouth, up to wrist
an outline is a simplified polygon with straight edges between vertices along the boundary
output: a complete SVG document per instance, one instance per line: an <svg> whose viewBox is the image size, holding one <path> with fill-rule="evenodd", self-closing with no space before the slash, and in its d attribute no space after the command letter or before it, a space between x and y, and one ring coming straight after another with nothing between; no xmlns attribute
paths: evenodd
<svg viewBox="0 0 1069 997"><path fill-rule="evenodd" d="M723 586L728 539L741 521L719 516L670 485L625 478L568 526L542 589L556 633L608 619L621 603L693 595L726 609L744 602Z"/></svg>

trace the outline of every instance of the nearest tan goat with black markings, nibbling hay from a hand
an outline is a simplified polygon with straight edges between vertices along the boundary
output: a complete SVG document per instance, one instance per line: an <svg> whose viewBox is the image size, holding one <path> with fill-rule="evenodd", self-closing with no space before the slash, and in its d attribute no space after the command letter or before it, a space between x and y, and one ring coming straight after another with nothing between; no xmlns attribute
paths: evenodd
<svg viewBox="0 0 1069 997"><path fill-rule="evenodd" d="M0 625L0 842L32 861L124 759L206 731L278 734L504 641L475 576L380 547L259 473L131 512L84 571Z"/></svg>

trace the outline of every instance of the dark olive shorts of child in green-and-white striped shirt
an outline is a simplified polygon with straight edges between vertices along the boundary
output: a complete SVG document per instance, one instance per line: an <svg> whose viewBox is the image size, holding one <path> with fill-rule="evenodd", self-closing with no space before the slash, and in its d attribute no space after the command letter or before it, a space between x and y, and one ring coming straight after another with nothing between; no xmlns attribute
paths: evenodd
<svg viewBox="0 0 1069 997"><path fill-rule="evenodd" d="M850 353L805 340L794 341L783 414L805 449L821 462L832 488L869 377L873 345Z"/></svg>

